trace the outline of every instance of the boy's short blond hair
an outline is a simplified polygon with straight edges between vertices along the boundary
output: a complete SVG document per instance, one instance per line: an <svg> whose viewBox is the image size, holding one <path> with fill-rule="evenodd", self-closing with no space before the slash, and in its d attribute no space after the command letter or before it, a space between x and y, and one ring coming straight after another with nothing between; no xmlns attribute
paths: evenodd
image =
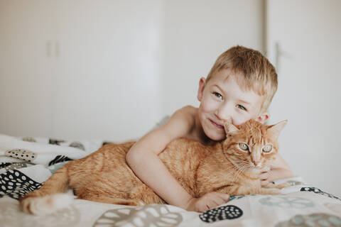
<svg viewBox="0 0 341 227"><path fill-rule="evenodd" d="M208 82L216 72L226 69L240 75L236 79L242 89L251 89L256 94L264 96L261 113L269 108L277 90L277 73L275 67L261 52L240 45L229 48L217 58L206 81Z"/></svg>

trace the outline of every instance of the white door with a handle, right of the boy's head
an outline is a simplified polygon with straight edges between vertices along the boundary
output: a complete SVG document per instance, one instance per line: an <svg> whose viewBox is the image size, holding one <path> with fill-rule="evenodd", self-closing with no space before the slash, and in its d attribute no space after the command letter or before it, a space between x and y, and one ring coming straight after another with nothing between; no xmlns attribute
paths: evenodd
<svg viewBox="0 0 341 227"><path fill-rule="evenodd" d="M269 57L278 92L271 122L288 124L281 153L306 182L341 196L341 1L269 0Z"/></svg>

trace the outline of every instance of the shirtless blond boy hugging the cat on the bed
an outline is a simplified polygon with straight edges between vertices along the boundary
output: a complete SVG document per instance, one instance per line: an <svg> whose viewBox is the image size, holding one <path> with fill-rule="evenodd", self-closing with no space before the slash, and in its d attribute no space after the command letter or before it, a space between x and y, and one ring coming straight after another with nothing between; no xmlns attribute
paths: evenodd
<svg viewBox="0 0 341 227"><path fill-rule="evenodd" d="M165 125L147 133L129 150L126 162L137 177L168 204L188 211L203 212L229 200L227 194L210 192L193 198L168 172L158 154L175 138L189 138L208 144L223 140L224 122L239 125L253 118L265 123L266 113L277 89L274 66L256 50L236 46L223 52L207 78L200 78L197 99L200 106L175 111ZM278 155L271 170L260 176L265 185L274 179L291 177L290 167Z"/></svg>

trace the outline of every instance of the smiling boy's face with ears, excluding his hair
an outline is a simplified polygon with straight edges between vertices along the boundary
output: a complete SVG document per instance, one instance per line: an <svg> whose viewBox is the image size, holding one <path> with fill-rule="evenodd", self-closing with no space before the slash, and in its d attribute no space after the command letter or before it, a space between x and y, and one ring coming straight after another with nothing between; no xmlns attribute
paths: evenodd
<svg viewBox="0 0 341 227"><path fill-rule="evenodd" d="M200 79L197 99L200 101L198 109L199 120L208 138L222 140L226 137L224 122L240 125L251 118L264 123L269 115L261 115L259 111L264 101L251 89L243 91L231 70L220 70L212 75L206 83Z"/></svg>

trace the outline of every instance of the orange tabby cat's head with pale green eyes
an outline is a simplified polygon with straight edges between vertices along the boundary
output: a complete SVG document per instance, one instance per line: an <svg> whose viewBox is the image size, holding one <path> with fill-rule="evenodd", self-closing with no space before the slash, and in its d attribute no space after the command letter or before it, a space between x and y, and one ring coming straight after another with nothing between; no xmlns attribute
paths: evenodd
<svg viewBox="0 0 341 227"><path fill-rule="evenodd" d="M225 123L224 154L234 164L246 168L262 168L269 165L278 153L278 135L286 126L286 120L272 126L249 120L240 126Z"/></svg>

